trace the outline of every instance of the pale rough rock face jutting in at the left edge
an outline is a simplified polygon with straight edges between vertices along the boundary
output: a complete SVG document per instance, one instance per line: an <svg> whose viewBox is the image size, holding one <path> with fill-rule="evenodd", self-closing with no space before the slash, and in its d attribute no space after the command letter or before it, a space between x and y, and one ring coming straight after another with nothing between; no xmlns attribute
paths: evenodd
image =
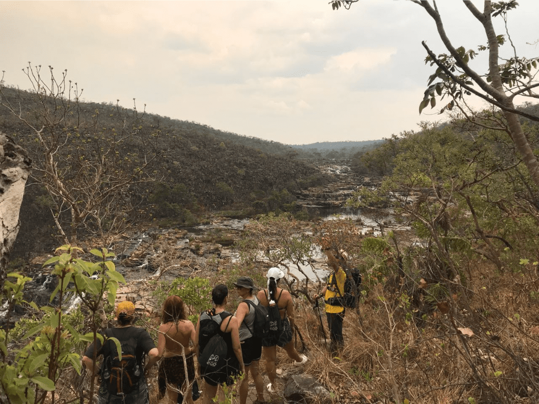
<svg viewBox="0 0 539 404"><path fill-rule="evenodd" d="M19 231L19 209L31 163L23 148L0 133L0 290L4 288L9 252Z"/></svg>

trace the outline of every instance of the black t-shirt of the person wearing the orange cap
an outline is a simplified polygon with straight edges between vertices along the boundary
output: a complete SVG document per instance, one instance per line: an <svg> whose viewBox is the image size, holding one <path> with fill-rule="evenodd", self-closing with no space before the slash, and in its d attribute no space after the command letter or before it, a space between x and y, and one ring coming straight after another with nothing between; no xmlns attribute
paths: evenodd
<svg viewBox="0 0 539 404"><path fill-rule="evenodd" d="M118 338L120 343L127 341L130 338L135 338L137 341L136 346L136 358L137 362L140 365L143 365L142 359L144 357L144 354L147 354L150 352L151 349L155 348L155 344L153 339L151 339L148 331L144 330L143 328L138 327L125 327L125 328L109 328L105 331L105 333L101 333L103 337L107 335L108 337L114 337ZM118 351L116 351L116 345L113 341L106 341L105 345L101 346L100 340L96 340L96 344L98 346L98 352L96 355L96 358L100 355L103 355L104 357L108 356L116 356L118 354ZM91 344L86 352L84 353L84 356L87 356L88 358L93 359L94 357L94 344Z"/></svg>

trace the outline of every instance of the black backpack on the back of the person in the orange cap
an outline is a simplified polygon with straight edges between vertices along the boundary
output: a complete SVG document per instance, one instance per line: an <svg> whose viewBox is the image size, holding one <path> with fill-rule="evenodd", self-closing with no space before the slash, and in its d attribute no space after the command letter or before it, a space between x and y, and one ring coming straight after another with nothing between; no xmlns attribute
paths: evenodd
<svg viewBox="0 0 539 404"><path fill-rule="evenodd" d="M106 337L114 337L114 329L105 330ZM101 377L105 380L107 391L114 395L127 395L139 388L142 370L136 359L136 336L120 341L122 358L118 356L116 345L108 342L110 354L103 360ZM111 348L112 346L112 348Z"/></svg>

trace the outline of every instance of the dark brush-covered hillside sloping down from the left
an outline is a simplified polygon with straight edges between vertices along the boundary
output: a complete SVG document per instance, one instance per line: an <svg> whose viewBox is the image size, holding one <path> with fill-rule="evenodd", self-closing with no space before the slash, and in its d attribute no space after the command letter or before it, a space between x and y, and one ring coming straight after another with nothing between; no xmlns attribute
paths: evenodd
<svg viewBox="0 0 539 404"><path fill-rule="evenodd" d="M17 240L26 250L51 233L112 231L118 218L193 225L209 211L294 211L296 191L327 181L277 142L58 94L3 87L1 101L0 131L33 161Z"/></svg>

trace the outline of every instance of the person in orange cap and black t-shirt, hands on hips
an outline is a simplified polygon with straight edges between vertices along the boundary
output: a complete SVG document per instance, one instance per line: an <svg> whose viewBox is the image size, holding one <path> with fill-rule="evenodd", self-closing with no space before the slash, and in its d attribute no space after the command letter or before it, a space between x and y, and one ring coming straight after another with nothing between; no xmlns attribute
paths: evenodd
<svg viewBox="0 0 539 404"><path fill-rule="evenodd" d="M92 372L98 374L95 359L103 355L100 370L98 404L149 404L148 386L145 374L158 360L158 351L149 333L143 328L133 326L135 305L132 302L121 302L116 308L117 324L103 331L105 343L100 340L92 343L82 363ZM116 344L107 338L114 337L122 347L122 364L119 364ZM144 368L144 355L148 355L148 363ZM120 369L124 367L122 372ZM123 376L123 378L122 378Z"/></svg>

